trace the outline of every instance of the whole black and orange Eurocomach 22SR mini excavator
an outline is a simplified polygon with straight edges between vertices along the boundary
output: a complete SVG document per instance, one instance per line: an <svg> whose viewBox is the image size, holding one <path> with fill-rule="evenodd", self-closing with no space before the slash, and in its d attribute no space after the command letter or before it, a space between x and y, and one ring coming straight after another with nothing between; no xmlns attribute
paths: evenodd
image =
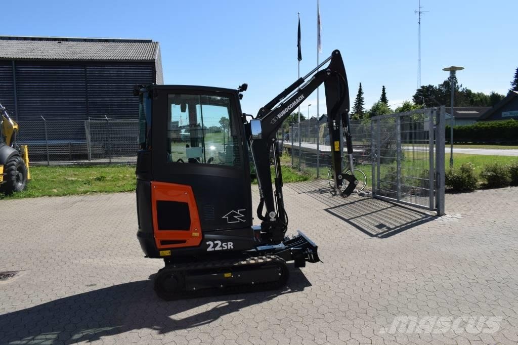
<svg viewBox="0 0 518 345"><path fill-rule="evenodd" d="M165 262L154 282L160 297L276 289L288 279L286 262L304 267L306 262L320 261L317 246L303 233L286 236L288 217L276 133L322 83L335 192L347 197L357 180L341 169L342 128L350 165L352 145L349 89L338 50L268 102L255 118L241 113L240 99L247 84L237 90L135 87L140 99L137 237L147 257ZM271 150L272 146L276 149ZM260 225L252 223L250 160L260 192L256 211Z"/></svg>

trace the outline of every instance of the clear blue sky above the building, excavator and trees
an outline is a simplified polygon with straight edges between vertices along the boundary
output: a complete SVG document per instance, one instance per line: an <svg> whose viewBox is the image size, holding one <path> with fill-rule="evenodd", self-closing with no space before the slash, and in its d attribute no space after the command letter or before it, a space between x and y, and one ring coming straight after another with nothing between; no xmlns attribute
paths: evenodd
<svg viewBox="0 0 518 345"><path fill-rule="evenodd" d="M518 1L422 0L421 81L438 84L450 65L473 91L506 93L518 67ZM321 0L322 53L334 49L346 66L351 107L358 83L366 107L385 85L389 104L418 86L418 23L412 1ZM162 49L169 84L236 88L247 82L243 111L255 114L297 78L297 12L303 61L316 65L316 0L301 1L3 1L2 32L16 36L151 38ZM301 107L316 112L316 93ZM320 113L324 113L323 88Z"/></svg>

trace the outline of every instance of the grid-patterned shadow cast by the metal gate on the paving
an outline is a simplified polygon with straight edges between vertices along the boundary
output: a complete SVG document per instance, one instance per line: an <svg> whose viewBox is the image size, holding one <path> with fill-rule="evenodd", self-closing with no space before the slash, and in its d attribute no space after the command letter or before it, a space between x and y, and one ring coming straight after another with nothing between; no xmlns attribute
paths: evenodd
<svg viewBox="0 0 518 345"><path fill-rule="evenodd" d="M410 207L363 198L352 194L347 199L333 195L327 181L290 184L297 194L307 194L327 206L324 210L354 226L370 237L388 238L427 223L436 215Z"/></svg>

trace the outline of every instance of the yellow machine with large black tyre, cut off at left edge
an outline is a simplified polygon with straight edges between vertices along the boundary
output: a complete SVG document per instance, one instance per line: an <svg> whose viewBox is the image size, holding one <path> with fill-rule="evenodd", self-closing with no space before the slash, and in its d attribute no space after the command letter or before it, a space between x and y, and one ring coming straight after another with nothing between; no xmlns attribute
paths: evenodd
<svg viewBox="0 0 518 345"><path fill-rule="evenodd" d="M23 191L31 179L27 146L16 143L17 134L18 124L0 104L0 193Z"/></svg>

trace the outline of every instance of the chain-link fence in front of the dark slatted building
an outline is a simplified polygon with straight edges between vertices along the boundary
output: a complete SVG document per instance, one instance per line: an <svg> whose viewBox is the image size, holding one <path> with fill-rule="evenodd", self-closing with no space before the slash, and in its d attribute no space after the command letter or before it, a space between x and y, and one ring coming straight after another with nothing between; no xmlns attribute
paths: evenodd
<svg viewBox="0 0 518 345"><path fill-rule="evenodd" d="M138 120L18 121L17 142L28 145L31 164L136 161Z"/></svg>

